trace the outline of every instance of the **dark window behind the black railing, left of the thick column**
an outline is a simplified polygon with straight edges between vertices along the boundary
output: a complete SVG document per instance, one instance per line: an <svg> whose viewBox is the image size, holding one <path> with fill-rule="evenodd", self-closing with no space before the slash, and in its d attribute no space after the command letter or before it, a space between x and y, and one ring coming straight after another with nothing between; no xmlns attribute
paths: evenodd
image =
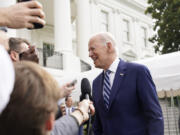
<svg viewBox="0 0 180 135"><path fill-rule="evenodd" d="M54 45L49 43L43 43L43 66L47 66L47 58L53 56Z"/></svg>

